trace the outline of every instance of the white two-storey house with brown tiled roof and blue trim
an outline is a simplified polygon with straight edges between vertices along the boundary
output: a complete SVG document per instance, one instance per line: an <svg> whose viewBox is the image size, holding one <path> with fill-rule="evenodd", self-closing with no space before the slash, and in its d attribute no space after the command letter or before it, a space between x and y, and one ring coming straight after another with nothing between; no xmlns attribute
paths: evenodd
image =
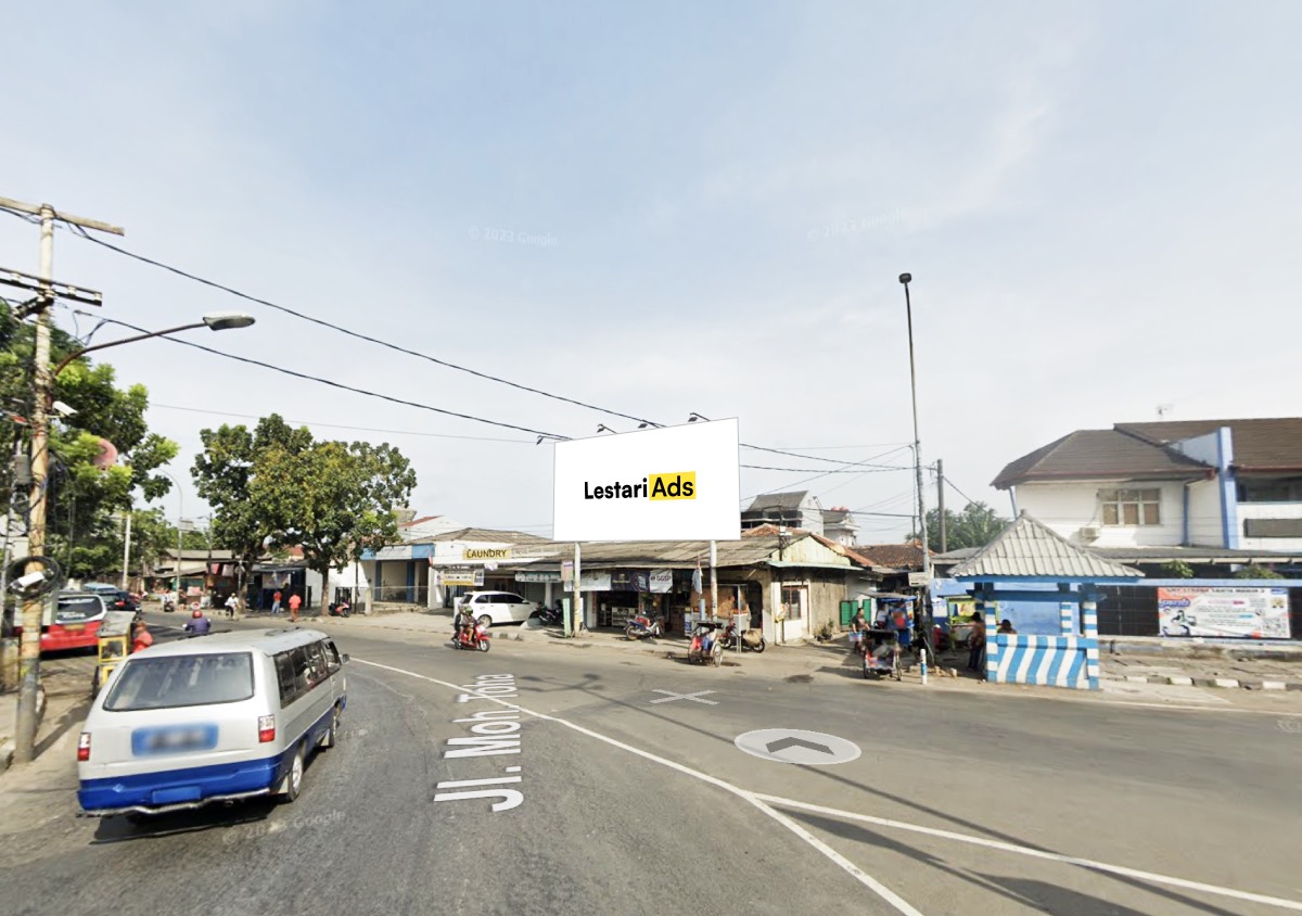
<svg viewBox="0 0 1302 916"><path fill-rule="evenodd" d="M1077 430L992 486L1079 545L1302 551L1302 418Z"/></svg>

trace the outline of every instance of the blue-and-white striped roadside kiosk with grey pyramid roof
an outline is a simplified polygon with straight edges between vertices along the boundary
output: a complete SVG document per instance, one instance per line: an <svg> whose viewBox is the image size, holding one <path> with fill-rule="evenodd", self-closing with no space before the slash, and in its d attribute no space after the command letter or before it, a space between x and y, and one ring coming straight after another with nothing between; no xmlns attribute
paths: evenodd
<svg viewBox="0 0 1302 916"><path fill-rule="evenodd" d="M1129 585L1143 573L1098 556L1022 512L949 573L971 582L986 619L986 680L1099 689L1099 585ZM1056 602L1057 635L996 632L996 602Z"/></svg>

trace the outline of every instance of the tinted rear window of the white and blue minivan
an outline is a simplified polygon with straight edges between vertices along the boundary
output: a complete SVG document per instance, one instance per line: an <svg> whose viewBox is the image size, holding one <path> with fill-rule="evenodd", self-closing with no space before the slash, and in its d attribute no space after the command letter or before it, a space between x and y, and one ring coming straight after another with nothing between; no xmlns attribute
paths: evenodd
<svg viewBox="0 0 1302 916"><path fill-rule="evenodd" d="M253 696L253 655L224 651L129 661L104 709L128 713L238 702Z"/></svg>

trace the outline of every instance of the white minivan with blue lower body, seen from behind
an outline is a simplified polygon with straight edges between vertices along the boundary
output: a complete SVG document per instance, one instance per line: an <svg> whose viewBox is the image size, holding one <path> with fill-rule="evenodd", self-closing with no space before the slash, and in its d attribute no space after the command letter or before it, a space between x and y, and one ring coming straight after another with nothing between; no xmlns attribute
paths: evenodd
<svg viewBox="0 0 1302 916"><path fill-rule="evenodd" d="M326 633L297 627L130 654L86 717L77 800L90 814L293 801L307 754L337 737L346 661Z"/></svg>

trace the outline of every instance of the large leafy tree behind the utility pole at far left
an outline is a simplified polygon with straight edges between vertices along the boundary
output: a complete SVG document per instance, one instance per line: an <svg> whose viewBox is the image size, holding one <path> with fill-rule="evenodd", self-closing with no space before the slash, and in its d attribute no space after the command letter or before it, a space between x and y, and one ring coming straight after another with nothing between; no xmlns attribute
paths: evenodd
<svg viewBox="0 0 1302 916"><path fill-rule="evenodd" d="M52 362L78 349L78 340L51 328ZM34 353L31 324L18 321L0 300L0 407L9 417L31 414ZM49 425L47 554L60 560L73 577L108 573L121 564L120 534L116 556L112 550L113 513L128 511L137 495L151 500L171 490L171 481L154 472L176 456L177 444L150 433L145 421L148 408L145 386L116 387L108 364L92 365L86 357L73 360L55 379L55 400L76 413L55 417ZM102 440L117 451L116 463L107 468L99 463ZM12 442L8 439L7 448ZM7 494L12 485L9 464L0 460L0 487Z"/></svg>

